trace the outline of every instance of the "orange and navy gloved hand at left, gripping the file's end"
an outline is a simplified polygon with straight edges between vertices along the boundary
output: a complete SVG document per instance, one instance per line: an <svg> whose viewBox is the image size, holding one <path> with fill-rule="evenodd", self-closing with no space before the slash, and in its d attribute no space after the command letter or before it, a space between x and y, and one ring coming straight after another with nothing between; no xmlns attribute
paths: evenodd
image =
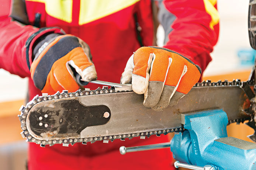
<svg viewBox="0 0 256 170"><path fill-rule="evenodd" d="M33 54L31 77L42 93L78 90L74 72L86 82L97 79L90 48L76 36L49 34L35 46Z"/></svg>

